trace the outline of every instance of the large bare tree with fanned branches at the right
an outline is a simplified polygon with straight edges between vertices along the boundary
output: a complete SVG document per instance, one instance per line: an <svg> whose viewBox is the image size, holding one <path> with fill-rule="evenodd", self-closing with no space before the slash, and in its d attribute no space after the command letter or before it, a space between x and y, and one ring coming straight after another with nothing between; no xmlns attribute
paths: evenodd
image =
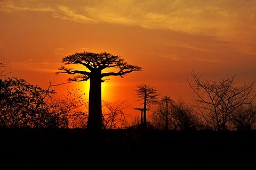
<svg viewBox="0 0 256 170"><path fill-rule="evenodd" d="M201 81L203 74L190 72L194 81L188 81L195 94L195 106L202 116L206 128L215 131L229 130L230 118L236 109L251 104L255 95L252 95L253 84L235 86L236 75L227 76L218 82Z"/></svg>

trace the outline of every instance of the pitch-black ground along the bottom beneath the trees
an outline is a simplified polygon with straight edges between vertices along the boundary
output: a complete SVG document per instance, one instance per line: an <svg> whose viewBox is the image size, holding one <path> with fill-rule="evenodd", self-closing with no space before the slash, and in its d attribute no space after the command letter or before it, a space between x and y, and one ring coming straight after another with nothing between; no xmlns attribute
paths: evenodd
<svg viewBox="0 0 256 170"><path fill-rule="evenodd" d="M8 169L219 169L254 166L256 132L0 129Z"/></svg>

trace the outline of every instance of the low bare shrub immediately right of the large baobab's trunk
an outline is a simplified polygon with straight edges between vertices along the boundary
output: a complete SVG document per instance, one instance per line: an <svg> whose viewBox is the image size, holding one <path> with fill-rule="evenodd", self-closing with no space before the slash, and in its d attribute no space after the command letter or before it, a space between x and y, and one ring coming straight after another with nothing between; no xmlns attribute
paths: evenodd
<svg viewBox="0 0 256 170"><path fill-rule="evenodd" d="M126 101L115 102L102 101L102 123L103 129L124 129L128 126L124 110L129 107Z"/></svg>

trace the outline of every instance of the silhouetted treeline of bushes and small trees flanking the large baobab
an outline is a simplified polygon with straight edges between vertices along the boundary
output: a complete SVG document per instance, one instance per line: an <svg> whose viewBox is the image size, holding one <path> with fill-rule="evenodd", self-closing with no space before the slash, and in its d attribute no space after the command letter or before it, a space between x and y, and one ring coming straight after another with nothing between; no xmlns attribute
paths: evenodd
<svg viewBox="0 0 256 170"><path fill-rule="evenodd" d="M0 60L0 68L6 66ZM81 90L58 94L51 90L51 84L43 89L7 74L0 70L0 128L88 128L90 109ZM159 98L155 87L142 83L135 92L143 107L134 108L141 116L125 113L129 107L126 101L102 101L102 129L256 130L254 82L237 86L236 75L219 81L202 80L203 74L194 71L190 75L193 103L182 99L175 102L169 96Z"/></svg>

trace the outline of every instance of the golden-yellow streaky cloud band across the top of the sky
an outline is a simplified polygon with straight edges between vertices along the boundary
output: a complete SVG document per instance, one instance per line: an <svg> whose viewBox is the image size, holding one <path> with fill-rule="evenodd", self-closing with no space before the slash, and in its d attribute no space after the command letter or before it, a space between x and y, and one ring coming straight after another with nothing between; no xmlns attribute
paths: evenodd
<svg viewBox="0 0 256 170"><path fill-rule="evenodd" d="M22 3L21 3L22 2ZM137 25L254 41L256 1L5 1L0 10L52 12L54 18L82 23Z"/></svg>

